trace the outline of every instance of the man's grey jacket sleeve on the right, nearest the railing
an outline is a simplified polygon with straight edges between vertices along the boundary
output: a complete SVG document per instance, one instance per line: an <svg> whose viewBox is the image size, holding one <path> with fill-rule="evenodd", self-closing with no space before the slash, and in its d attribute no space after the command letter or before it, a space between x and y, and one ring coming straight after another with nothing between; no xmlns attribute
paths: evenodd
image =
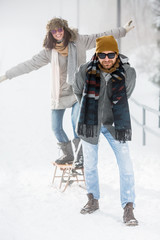
<svg viewBox="0 0 160 240"><path fill-rule="evenodd" d="M129 98L135 88L136 84L136 71L134 68L129 67L126 70L126 93Z"/></svg>

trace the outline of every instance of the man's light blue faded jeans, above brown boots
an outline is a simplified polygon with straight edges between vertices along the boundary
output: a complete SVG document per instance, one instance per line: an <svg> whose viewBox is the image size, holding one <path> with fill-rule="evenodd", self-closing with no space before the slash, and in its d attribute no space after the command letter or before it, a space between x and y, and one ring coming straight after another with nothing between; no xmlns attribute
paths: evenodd
<svg viewBox="0 0 160 240"><path fill-rule="evenodd" d="M134 173L128 144L115 140L105 127L101 128L101 132L111 145L117 159L120 174L121 205L124 208L128 202L132 202L135 206ZM95 199L99 199L98 144L93 145L82 140L82 146L87 192L92 193Z"/></svg>

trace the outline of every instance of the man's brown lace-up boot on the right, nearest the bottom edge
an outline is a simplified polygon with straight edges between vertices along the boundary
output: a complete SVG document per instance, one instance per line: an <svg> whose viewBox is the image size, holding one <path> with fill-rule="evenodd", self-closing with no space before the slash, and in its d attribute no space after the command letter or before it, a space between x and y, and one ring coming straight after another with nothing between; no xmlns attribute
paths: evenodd
<svg viewBox="0 0 160 240"><path fill-rule="evenodd" d="M133 214L133 203L127 203L124 208L123 221L127 226L137 226L138 221Z"/></svg>

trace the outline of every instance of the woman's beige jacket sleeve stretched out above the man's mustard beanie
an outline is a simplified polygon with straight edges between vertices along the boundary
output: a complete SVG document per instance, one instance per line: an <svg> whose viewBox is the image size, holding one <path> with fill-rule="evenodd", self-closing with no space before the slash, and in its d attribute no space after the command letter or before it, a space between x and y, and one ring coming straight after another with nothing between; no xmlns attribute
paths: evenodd
<svg viewBox="0 0 160 240"><path fill-rule="evenodd" d="M126 35L126 30L125 28L120 27L120 28L111 29L98 34L79 35L79 41L84 45L84 48L86 50L89 50L96 47L96 38L99 38L102 36L108 36L108 35L112 35L115 38L121 38Z"/></svg>

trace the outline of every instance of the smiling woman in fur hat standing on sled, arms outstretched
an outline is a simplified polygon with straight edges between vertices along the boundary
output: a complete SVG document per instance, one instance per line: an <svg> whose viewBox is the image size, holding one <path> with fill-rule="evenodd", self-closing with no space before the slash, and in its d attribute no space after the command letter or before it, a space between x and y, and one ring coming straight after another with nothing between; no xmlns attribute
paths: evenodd
<svg viewBox="0 0 160 240"><path fill-rule="evenodd" d="M51 85L51 109L52 109L52 130L58 140L58 145L63 155L56 160L59 164L72 163L74 154L72 144L63 129L63 116L66 108L72 108L71 121L74 133L73 143L75 151L79 145L79 137L75 132L79 104L73 94L72 84L74 74L78 67L86 62L86 51L95 47L96 38L104 35L113 35L115 38L124 37L126 32L131 30L132 21L124 27L106 31L99 34L80 35L76 29L68 27L66 20L62 18L51 19L46 26L44 49L32 59L18 64L6 71L0 77L0 82L12 79L24 73L37 70L48 63L51 63L52 85ZM82 148L78 150L75 159L76 167L83 164Z"/></svg>

